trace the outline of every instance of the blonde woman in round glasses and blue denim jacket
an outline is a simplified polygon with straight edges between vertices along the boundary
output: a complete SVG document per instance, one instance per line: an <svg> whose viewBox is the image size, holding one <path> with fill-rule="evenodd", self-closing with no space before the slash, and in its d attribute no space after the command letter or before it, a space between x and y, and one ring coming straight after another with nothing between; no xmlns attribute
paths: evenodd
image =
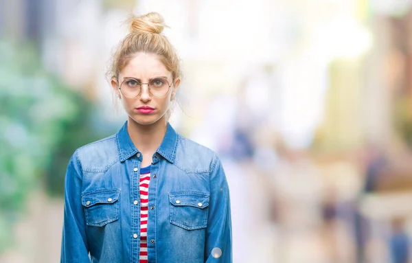
<svg viewBox="0 0 412 263"><path fill-rule="evenodd" d="M157 13L134 18L113 56L128 120L69 161L61 262L231 262L222 163L168 123L181 71L163 27Z"/></svg>

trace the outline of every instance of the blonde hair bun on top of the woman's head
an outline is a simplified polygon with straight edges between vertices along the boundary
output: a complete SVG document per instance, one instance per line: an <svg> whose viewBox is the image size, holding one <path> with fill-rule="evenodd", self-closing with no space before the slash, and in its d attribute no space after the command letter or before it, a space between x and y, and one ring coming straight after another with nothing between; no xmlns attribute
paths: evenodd
<svg viewBox="0 0 412 263"><path fill-rule="evenodd" d="M164 27L163 16L157 12L132 17L130 21L130 32L161 34Z"/></svg>

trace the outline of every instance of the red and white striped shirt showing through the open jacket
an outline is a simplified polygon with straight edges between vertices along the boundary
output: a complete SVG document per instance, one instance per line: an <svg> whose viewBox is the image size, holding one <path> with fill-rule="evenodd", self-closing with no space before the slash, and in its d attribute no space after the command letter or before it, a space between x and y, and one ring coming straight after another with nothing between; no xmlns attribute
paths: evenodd
<svg viewBox="0 0 412 263"><path fill-rule="evenodd" d="M140 169L140 255L139 263L148 263L148 191L150 165Z"/></svg>

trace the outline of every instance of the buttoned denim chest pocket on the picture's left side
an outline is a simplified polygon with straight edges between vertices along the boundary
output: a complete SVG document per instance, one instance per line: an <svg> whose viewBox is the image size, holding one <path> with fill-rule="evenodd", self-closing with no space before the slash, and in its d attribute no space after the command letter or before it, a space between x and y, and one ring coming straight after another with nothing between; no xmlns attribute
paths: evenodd
<svg viewBox="0 0 412 263"><path fill-rule="evenodd" d="M120 190L97 190L82 194L86 224L102 227L119 218Z"/></svg>

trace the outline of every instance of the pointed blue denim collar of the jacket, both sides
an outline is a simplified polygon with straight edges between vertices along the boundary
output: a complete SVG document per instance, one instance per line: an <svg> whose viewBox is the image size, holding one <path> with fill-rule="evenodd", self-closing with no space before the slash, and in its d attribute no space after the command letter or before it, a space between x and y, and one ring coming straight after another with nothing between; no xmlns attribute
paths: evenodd
<svg viewBox="0 0 412 263"><path fill-rule="evenodd" d="M159 153L159 155L161 155L171 163L174 162L174 158L176 157L178 136L179 135L176 133L176 131L174 131L174 128L172 128L172 126L168 123L165 137L163 137L163 141L156 151L157 153ZM119 152L120 161L126 161L126 159L129 159L133 155L137 154L137 152L139 152L128 134L127 121L117 132L116 137L117 151Z"/></svg>

